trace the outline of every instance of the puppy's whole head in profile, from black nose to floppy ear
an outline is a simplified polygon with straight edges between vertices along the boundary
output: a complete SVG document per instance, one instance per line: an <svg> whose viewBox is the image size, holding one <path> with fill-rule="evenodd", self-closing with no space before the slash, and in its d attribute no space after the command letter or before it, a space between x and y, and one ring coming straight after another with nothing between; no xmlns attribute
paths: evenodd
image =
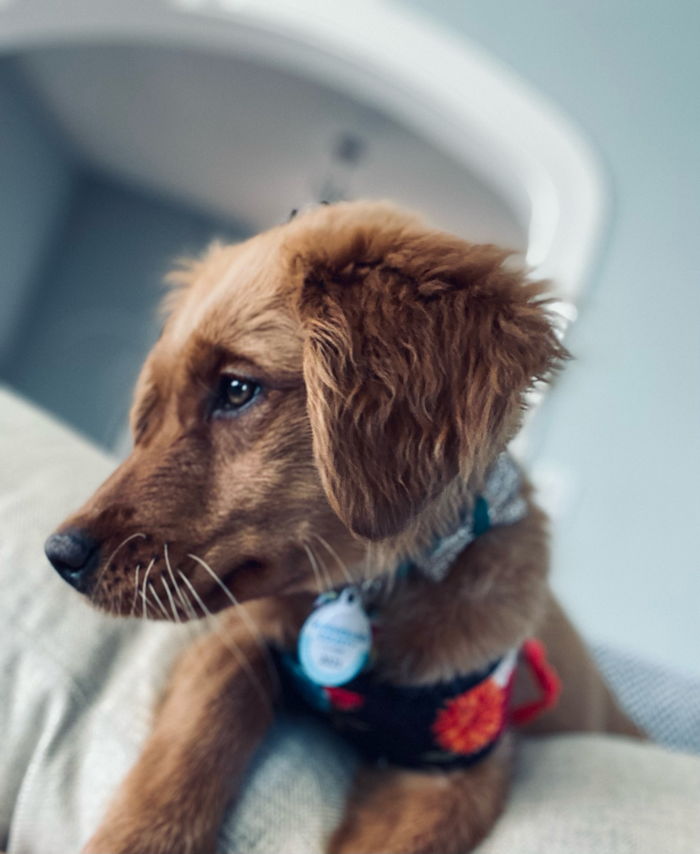
<svg viewBox="0 0 700 854"><path fill-rule="evenodd" d="M133 452L48 541L56 569L105 609L185 617L410 539L566 355L506 256L357 202L173 274Z"/></svg>

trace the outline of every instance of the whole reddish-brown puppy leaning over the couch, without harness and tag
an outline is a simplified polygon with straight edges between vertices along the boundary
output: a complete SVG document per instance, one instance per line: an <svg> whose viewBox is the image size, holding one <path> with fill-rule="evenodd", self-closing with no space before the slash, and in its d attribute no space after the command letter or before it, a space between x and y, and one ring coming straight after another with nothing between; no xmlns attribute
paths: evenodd
<svg viewBox="0 0 700 854"><path fill-rule="evenodd" d="M377 679L450 681L539 634L564 676L540 728L634 733L548 594L527 487L524 518L479 536L440 582L393 579L474 506L524 393L566 357L540 286L505 257L385 204L341 203L172 276L133 453L48 553L108 611L226 610L178 664L87 850L214 850L271 722L265 645L294 649L319 588L348 576L380 579ZM509 743L464 769L367 766L329 850L470 850L503 807Z"/></svg>

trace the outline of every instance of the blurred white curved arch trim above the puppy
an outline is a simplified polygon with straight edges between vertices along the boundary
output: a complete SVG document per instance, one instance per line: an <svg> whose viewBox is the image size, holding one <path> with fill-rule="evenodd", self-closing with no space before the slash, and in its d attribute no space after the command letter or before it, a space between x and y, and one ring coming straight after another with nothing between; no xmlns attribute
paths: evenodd
<svg viewBox="0 0 700 854"><path fill-rule="evenodd" d="M602 169L557 108L475 45L382 0L0 0L0 51L110 42L253 59L400 121L496 190L534 275L575 316L605 225Z"/></svg>

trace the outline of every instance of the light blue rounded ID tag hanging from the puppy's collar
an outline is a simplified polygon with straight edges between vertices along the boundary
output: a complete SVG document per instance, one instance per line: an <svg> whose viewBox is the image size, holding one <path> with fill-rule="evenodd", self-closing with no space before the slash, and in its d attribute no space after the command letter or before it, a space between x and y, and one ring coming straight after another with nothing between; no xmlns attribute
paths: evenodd
<svg viewBox="0 0 700 854"><path fill-rule="evenodd" d="M365 666L372 646L370 618L356 587L319 605L299 633L299 664L316 685L345 685Z"/></svg>

